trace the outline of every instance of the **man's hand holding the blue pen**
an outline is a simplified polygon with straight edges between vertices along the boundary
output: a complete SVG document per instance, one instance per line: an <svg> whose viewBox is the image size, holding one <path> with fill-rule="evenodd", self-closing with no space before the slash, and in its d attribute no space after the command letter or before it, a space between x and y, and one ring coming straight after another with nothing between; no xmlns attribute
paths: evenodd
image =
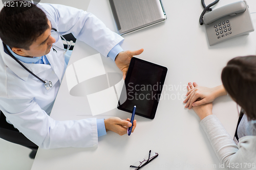
<svg viewBox="0 0 256 170"><path fill-rule="evenodd" d="M126 120L122 120L119 117L110 117L107 119L104 119L105 128L106 131L113 131L120 136L127 134L127 129L132 126L132 123L130 122L131 119L127 118ZM134 129L136 128L136 120L133 121L133 129L132 132L134 132Z"/></svg>

